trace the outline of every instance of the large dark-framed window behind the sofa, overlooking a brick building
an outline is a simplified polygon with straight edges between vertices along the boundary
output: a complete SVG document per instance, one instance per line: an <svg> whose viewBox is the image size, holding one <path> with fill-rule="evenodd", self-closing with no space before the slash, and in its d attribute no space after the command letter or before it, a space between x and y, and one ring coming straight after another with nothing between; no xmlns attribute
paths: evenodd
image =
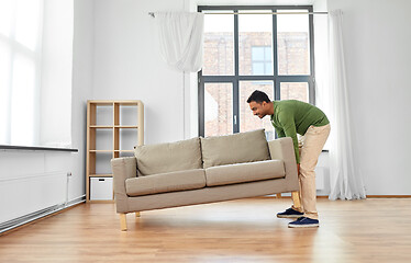
<svg viewBox="0 0 411 263"><path fill-rule="evenodd" d="M271 100L314 104L312 15L271 14L312 12L312 7L198 10L207 11L204 65L198 76L200 135L265 128L267 139L274 139L269 118L255 117L246 100L254 90L262 90Z"/></svg>

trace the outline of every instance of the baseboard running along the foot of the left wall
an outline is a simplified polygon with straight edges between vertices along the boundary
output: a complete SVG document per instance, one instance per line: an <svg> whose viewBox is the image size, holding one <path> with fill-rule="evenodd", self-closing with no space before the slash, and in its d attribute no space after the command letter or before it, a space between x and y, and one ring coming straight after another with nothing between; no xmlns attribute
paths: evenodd
<svg viewBox="0 0 411 263"><path fill-rule="evenodd" d="M74 198L74 199L71 199L71 201L69 201L65 204L51 206L51 207L47 207L45 209L29 214L29 215L25 215L25 216L22 216L22 217L19 217L19 218L15 218L15 219L12 219L12 220L9 220L9 221L5 221L5 222L2 222L2 224L0 224L0 236L9 233L9 232L15 230L16 228L21 228L21 227L30 225L34 221L44 219L46 217L49 217L49 216L53 216L55 214L62 213L66 209L73 208L76 205L79 205L79 204L85 203L85 202L86 202L86 195L82 195L82 196Z"/></svg>

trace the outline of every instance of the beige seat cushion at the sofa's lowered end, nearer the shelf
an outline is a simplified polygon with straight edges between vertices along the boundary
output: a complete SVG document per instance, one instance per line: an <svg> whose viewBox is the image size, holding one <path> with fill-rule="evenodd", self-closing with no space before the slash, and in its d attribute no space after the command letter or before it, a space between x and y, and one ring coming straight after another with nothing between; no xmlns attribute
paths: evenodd
<svg viewBox="0 0 411 263"><path fill-rule="evenodd" d="M206 174L203 169L158 173L125 180L125 192L129 196L197 190L204 186Z"/></svg>

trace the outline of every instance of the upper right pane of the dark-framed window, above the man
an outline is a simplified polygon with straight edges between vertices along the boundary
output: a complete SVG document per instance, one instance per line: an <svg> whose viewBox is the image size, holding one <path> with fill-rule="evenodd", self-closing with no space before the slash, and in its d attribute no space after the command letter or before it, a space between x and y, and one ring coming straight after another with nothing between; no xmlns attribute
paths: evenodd
<svg viewBox="0 0 411 263"><path fill-rule="evenodd" d="M278 10L308 12L308 10ZM310 75L308 14L277 15L278 75Z"/></svg>

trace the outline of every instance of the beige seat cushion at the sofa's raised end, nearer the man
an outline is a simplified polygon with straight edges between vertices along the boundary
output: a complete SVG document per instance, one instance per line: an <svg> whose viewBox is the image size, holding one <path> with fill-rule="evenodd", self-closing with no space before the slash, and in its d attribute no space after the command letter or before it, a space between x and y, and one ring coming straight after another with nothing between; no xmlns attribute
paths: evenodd
<svg viewBox="0 0 411 263"><path fill-rule="evenodd" d="M245 183L285 176L286 171L281 160L236 163L206 169L207 186Z"/></svg>

